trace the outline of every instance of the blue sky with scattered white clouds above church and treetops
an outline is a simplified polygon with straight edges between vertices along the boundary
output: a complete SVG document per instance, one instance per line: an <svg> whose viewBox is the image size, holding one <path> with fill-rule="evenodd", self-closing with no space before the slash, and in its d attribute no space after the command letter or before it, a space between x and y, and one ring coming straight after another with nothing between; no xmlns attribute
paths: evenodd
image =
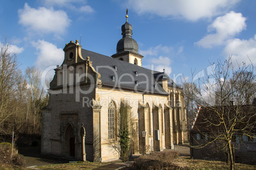
<svg viewBox="0 0 256 170"><path fill-rule="evenodd" d="M2 0L0 42L8 37L22 70L60 65L65 44L80 35L82 48L111 56L128 8L143 67L191 77L231 55L256 64L255 7L254 0Z"/></svg>

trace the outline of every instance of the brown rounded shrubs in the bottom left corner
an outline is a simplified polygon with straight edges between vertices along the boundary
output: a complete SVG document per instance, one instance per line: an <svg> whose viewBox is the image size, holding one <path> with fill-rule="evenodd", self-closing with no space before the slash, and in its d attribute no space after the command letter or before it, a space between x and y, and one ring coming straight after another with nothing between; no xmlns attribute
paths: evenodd
<svg viewBox="0 0 256 170"><path fill-rule="evenodd" d="M0 161L5 164L25 166L24 156L18 154L16 148L13 148L13 157L11 157L11 143L0 143Z"/></svg>

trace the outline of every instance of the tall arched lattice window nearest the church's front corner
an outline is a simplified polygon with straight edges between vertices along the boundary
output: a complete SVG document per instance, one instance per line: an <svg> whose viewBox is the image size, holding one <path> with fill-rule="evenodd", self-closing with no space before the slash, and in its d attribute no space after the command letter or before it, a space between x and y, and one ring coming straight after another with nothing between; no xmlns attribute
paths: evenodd
<svg viewBox="0 0 256 170"><path fill-rule="evenodd" d="M108 105L108 139L115 139L115 103Z"/></svg>

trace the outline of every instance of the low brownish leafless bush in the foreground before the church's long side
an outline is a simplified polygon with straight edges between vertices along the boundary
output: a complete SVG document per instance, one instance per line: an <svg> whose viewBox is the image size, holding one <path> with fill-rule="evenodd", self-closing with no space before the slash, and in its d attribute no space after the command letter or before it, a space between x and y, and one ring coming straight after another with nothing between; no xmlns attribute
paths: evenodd
<svg viewBox="0 0 256 170"><path fill-rule="evenodd" d="M135 169L188 169L173 164L173 160L178 158L178 152L159 152L144 155L134 160Z"/></svg>

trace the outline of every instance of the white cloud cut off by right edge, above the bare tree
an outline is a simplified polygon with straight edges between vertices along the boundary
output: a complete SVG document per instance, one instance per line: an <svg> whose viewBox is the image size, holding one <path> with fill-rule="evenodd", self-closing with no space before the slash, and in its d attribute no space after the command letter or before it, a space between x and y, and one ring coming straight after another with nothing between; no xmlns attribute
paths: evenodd
<svg viewBox="0 0 256 170"><path fill-rule="evenodd" d="M237 63L256 65L256 34L253 38L245 39L231 39L227 42L227 46L224 48L224 55L231 56L232 61L236 67Z"/></svg>

